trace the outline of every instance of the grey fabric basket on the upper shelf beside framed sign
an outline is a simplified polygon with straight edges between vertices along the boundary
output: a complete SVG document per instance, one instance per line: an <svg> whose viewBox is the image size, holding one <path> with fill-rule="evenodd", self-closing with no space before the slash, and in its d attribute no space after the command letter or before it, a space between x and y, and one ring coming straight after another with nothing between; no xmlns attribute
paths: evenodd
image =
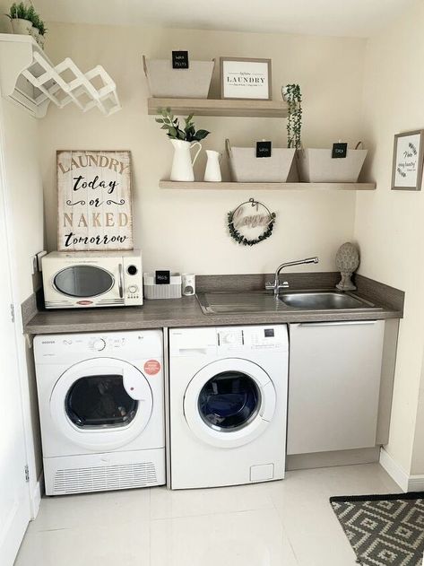
<svg viewBox="0 0 424 566"><path fill-rule="evenodd" d="M214 65L214 59L190 59L188 69L173 69L170 59L143 56L144 74L153 98L207 99Z"/></svg>

